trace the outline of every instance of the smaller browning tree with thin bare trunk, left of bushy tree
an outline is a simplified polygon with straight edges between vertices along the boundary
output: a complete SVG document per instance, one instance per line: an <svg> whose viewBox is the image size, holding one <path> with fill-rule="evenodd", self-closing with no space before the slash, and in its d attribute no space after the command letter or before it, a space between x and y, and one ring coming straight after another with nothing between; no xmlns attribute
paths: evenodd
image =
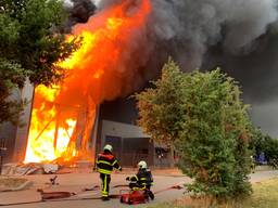
<svg viewBox="0 0 278 208"><path fill-rule="evenodd" d="M170 147L173 159L174 142L179 138L185 118L182 73L169 58L162 69L161 79L151 83L153 88L136 94L139 109L138 123L154 141Z"/></svg>

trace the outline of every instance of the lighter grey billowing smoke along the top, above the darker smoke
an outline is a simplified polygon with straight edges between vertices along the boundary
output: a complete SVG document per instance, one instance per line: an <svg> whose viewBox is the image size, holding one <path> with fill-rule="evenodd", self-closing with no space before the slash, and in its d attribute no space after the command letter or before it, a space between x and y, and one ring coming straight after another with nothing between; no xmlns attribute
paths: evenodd
<svg viewBox="0 0 278 208"><path fill-rule="evenodd" d="M138 1L138 0L135 0ZM101 0L105 9L121 0ZM200 67L207 49L222 43L231 54L248 54L277 21L277 0L151 0L150 32L186 69ZM148 44L150 44L148 42Z"/></svg>

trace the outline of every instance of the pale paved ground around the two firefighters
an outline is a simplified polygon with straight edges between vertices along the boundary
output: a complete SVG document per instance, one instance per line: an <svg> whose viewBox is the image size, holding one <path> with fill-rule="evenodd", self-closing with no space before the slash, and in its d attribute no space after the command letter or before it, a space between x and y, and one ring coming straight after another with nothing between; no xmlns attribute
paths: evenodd
<svg viewBox="0 0 278 208"><path fill-rule="evenodd" d="M111 186L118 184L126 184L125 178L128 174L114 173L112 177ZM80 192L85 187L92 187L99 185L98 173L70 173L60 174L58 178L59 185L47 187L45 184L52 176L29 176L29 180L34 181L34 185L27 191L20 192L7 192L0 193L0 204L9 203L24 203L40 200L40 194L36 192L37 188L43 188L47 191L66 191L80 193L78 197L98 197L100 196L99 191L92 192ZM260 171L251 176L252 182L260 182L273 177L278 177L278 171ZM190 182L190 179L182 176L154 176L153 191L163 191L175 184L182 184ZM123 188L123 187L122 187ZM185 190L172 190L157 193L155 199L150 204L172 200L182 196ZM118 194L119 188L112 188L111 194ZM150 205L149 204L149 205ZM137 207L146 207L148 205L141 205ZM111 199L110 202L101 202L100 199L88 199L88 200L65 200L65 202L51 202L51 203L39 203L28 205L16 205L16 206L2 206L10 208L117 208L117 207L129 207L121 205L118 199Z"/></svg>

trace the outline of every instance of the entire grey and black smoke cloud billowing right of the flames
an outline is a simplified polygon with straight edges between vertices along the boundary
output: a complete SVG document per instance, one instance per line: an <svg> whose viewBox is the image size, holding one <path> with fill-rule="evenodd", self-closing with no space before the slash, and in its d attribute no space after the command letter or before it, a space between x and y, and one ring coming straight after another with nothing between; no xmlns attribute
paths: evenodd
<svg viewBox="0 0 278 208"><path fill-rule="evenodd" d="M101 14L124 1L92 0L96 8L87 16ZM126 1L134 2L126 10L129 15L144 0ZM117 84L125 84L117 86L113 98L128 94L155 78L170 55L184 70L222 66L240 81L244 99L251 104L269 106L267 103L278 100L274 90L278 89L278 51L274 44L278 40L277 0L150 1L152 11L146 27L128 31L134 39L125 46L125 58L121 62L124 67L114 67L122 70L114 72L117 78L125 77Z"/></svg>

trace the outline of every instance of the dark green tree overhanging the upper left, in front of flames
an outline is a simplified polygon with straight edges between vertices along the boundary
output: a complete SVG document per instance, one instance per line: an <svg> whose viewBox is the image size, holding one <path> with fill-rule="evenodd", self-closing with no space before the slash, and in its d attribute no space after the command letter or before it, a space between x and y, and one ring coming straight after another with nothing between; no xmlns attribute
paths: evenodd
<svg viewBox="0 0 278 208"><path fill-rule="evenodd" d="M0 2L0 122L14 120L21 103L9 101L11 90L22 88L26 77L36 84L63 78L54 64L78 48L65 41L59 27L66 18L59 0L2 0Z"/></svg>

